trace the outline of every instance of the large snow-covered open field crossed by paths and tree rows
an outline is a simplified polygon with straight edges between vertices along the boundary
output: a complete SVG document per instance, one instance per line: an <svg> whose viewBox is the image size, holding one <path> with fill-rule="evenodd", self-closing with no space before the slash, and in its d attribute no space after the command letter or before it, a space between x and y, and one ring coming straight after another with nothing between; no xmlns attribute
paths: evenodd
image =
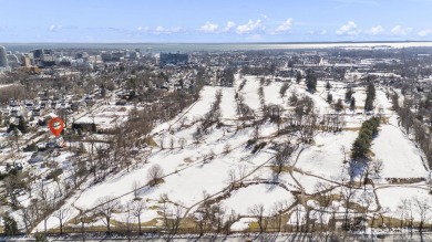
<svg viewBox="0 0 432 242"><path fill-rule="evenodd" d="M275 160L278 146L290 141L299 140L299 134L278 135L277 125L268 120L264 122L259 129L254 126L245 126L243 122L237 120L236 93L243 80L246 80L240 94L245 98L245 104L256 114L261 114L261 102L258 91L260 88L260 77L245 75L239 78L236 75L234 87L205 86L200 96L191 107L178 114L167 123L158 124L152 131L152 139L156 145L147 147L140 152L150 152L147 161L138 164L132 170L121 170L115 175L110 175L104 181L93 183L91 180L82 185L81 190L65 201L63 208L71 208L69 219L79 214L79 210L85 211L97 206L97 200L111 196L116 198L122 208L113 214L115 222L124 222L127 219L125 208L127 203L134 200L134 186L140 185L137 197L146 201L147 207L142 215L142 221L161 220L161 197L168 199L168 202L182 204L187 214L185 217L194 218L194 213L203 203L206 196L220 201L220 204L227 211L235 211L241 218L237 220L232 229L241 231L249 228L256 218L251 214L254 206L263 206L265 213L268 214L276 203L285 204L288 208L292 204L299 204L301 196L317 192L317 185L332 187L332 194L340 196L347 192L343 187L347 176L348 164L344 160L350 159L352 143L359 135L359 128L362 122L369 119L372 114L364 114L363 105L366 99L364 87L354 87L357 108L349 111L344 104L344 111L340 115L346 126L341 131L317 130L310 144L301 144L297 150L294 150L289 164L278 177L275 177L275 167L271 162ZM338 98L344 98L346 83L331 82L330 93L333 95L333 102ZM318 83L318 91L311 94L306 91L304 82L300 84L289 83L290 87L282 98L279 94L282 82L270 82L263 85L264 103L266 105L281 105L287 115L292 112L294 106L288 104L288 96L296 92L299 96L306 95L313 101L315 111L319 115L335 114L333 105L327 103L326 83ZM216 93L222 92L220 102L220 125L210 126L205 134L197 140L194 133L200 124L200 118L210 111L215 102ZM349 105L349 104L348 104ZM425 178L428 168L421 159L421 151L398 127L397 116L391 109L391 102L387 96L387 91L382 87L377 88L376 109L373 114L383 114L385 123L379 127L379 134L373 139L371 152L373 158L382 159L383 169L381 178ZM112 105L102 105L94 112L94 122L103 127L114 126L115 122L124 122L127 118L127 107L116 107ZM284 117L284 115L282 115ZM185 125L181 126L181 119ZM78 122L92 123L93 116L85 115ZM168 131L169 129L169 131ZM258 137L255 140L256 136ZM7 138L4 133L0 137ZM100 140L105 140L109 136L94 136ZM173 148L169 143L173 140ZM181 148L181 140L186 140ZM96 145L102 145L96 144ZM249 144L249 145L247 145ZM260 147L261 145L261 147ZM163 147L162 147L163 146ZM91 149L85 144L88 150ZM71 152L62 152L55 158L58 166L63 169L70 168ZM142 155L142 154L140 154ZM163 181L155 185L147 185L150 177L148 170L154 166L161 166L163 170ZM44 170L47 171L47 170ZM360 178L356 178L357 182ZM233 183L243 186L232 189ZM243 183L245 182L245 183ZM269 185L274 182L274 185ZM50 186L55 186L51 182ZM373 187L374 186L374 187ZM410 185L411 187L390 186L384 179L380 179L377 185L368 185L354 189L352 196L353 202L364 206L370 202L371 212L378 209L373 191L378 196L381 207L389 207L395 211L402 199L426 198L425 183ZM381 187L379 187L381 186ZM387 187L385 187L387 186ZM370 199L371 201L367 200ZM313 198L316 199L316 198ZM310 198L310 207L319 207L317 201ZM22 204L28 206L29 196L20 196ZM338 211L343 211L343 204L339 201L332 201ZM337 204L337 206L336 206ZM302 214L295 218L291 214L288 224L296 224L297 219L305 220L305 207L298 206L298 212ZM304 212L302 212L304 211ZM291 210L292 212L292 210ZM17 218L19 218L17 215ZM299 221L300 222L300 221ZM22 225L22 223L20 223ZM93 225L104 225L100 220ZM37 225L35 231L44 228L43 222ZM56 228L58 220L50 217L47 227Z"/></svg>

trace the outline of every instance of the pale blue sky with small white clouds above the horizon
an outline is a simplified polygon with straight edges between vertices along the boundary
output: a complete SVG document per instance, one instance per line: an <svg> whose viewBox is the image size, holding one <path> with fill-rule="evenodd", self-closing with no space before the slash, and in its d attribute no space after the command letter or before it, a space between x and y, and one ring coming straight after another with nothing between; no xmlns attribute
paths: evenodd
<svg viewBox="0 0 432 242"><path fill-rule="evenodd" d="M432 40L432 0L0 0L0 42Z"/></svg>

